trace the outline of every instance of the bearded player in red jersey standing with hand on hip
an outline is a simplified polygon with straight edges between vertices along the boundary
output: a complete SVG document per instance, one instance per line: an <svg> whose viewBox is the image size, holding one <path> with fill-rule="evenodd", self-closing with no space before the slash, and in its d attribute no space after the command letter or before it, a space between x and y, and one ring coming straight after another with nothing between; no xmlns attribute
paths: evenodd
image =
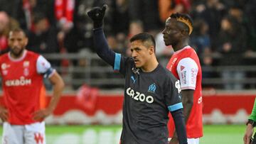
<svg viewBox="0 0 256 144"><path fill-rule="evenodd" d="M9 33L10 52L1 55L0 68L4 105L0 118L4 121L3 143L46 143L44 118L53 112L63 91L64 82L58 72L42 56L26 50L28 38L21 29ZM46 109L41 109L43 77L53 84L53 96Z"/></svg>

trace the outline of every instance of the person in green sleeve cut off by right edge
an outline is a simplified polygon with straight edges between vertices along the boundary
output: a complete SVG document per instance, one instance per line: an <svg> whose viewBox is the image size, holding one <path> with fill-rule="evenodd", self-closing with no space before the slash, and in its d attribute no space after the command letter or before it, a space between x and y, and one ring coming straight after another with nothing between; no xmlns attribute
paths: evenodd
<svg viewBox="0 0 256 144"><path fill-rule="evenodd" d="M256 99L255 104L253 105L252 113L250 114L248 121L246 123L246 131L243 137L244 144L251 144L250 139L252 138L253 128L256 126ZM256 143L256 135L254 136L254 140L252 144Z"/></svg>

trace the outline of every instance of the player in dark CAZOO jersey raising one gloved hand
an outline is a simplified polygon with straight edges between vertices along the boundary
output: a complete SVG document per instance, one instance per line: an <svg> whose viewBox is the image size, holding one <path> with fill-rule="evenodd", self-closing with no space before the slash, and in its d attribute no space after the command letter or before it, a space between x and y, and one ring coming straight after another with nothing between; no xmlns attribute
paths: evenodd
<svg viewBox="0 0 256 144"><path fill-rule="evenodd" d="M94 22L97 55L125 77L123 126L120 143L168 143L168 113L174 118L178 141L187 143L178 80L159 65L152 35L140 33L131 39L132 57L110 50L102 24L107 6L88 12Z"/></svg>

